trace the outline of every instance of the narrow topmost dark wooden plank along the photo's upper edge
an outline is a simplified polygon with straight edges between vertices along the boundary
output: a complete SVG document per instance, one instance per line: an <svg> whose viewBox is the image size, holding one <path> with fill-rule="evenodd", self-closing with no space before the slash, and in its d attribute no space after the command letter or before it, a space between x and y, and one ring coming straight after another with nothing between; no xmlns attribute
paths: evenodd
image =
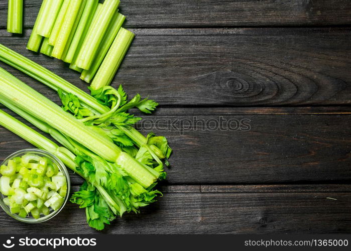
<svg viewBox="0 0 351 251"><path fill-rule="evenodd" d="M41 0L25 1L25 27L33 27ZM125 24L135 27L203 27L203 26L282 26L350 24L348 0L125 0L120 12ZM7 23L7 1L0 2L0 27Z"/></svg>

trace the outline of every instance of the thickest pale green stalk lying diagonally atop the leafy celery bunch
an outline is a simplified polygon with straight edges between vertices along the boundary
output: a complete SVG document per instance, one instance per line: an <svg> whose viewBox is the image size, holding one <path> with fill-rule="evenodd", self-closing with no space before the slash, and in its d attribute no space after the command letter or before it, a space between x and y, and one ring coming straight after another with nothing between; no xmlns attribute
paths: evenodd
<svg viewBox="0 0 351 251"><path fill-rule="evenodd" d="M0 76L0 96L11 100L17 107L45 121L54 129L65 132L68 137L103 159L123 167L130 177L145 188L152 185L158 178L145 165L122 152L108 139L86 127L71 114L2 68L0 68Z"/></svg>

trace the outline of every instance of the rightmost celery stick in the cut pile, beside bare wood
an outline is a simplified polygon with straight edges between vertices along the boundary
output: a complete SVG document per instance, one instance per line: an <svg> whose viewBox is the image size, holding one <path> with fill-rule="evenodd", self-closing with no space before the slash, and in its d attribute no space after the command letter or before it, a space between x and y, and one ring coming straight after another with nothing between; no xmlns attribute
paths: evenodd
<svg viewBox="0 0 351 251"><path fill-rule="evenodd" d="M96 90L111 83L134 36L133 32L124 28L120 29L90 85L91 88Z"/></svg>

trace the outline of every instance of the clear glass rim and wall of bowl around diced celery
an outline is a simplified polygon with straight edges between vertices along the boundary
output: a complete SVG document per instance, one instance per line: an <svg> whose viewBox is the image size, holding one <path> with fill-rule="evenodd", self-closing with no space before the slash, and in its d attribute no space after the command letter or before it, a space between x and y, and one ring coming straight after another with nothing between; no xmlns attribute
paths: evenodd
<svg viewBox="0 0 351 251"><path fill-rule="evenodd" d="M60 161L57 157L55 157L51 153L49 153L47 151L44 151L44 150L41 150L41 149L23 149L23 150L17 151L15 153L11 154L9 157L7 157L3 161L3 163L0 164L0 166L7 165L9 160L11 160L11 159L13 159L15 157L21 157L22 155L25 155L25 154L28 154L28 153L32 153L32 154L36 154L38 156L49 158L53 163L55 163L57 165L57 167L60 169L60 171L66 177L67 193L66 193L66 196L64 198L64 201L63 201L61 207L59 209L57 209L57 210L52 210L51 209L52 211L48 215L42 216L42 217L40 217L38 219L35 219L32 216L21 217L18 214L11 213L10 207L4 203L4 198L7 197L7 196L4 196L2 193L0 193L0 206L4 209L4 211L7 214L9 214L11 217L13 217L13 218L15 218L15 219L17 219L19 221L22 221L22 222L25 222L25 223L40 223L40 222L44 222L44 221L47 221L47 220L53 218L55 215L57 215L62 210L62 208L65 206L65 204L66 204L66 202L68 200L69 192L70 192L70 188L71 188L71 183L70 183L70 180L69 180L68 171L67 171L65 165L62 163L62 161ZM2 175L0 174L0 177L1 176Z"/></svg>

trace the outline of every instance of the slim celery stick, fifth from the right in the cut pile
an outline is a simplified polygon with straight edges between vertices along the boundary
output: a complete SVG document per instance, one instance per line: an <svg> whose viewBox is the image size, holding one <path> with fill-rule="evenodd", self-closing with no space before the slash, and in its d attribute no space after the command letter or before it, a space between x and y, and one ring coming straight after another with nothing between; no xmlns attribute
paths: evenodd
<svg viewBox="0 0 351 251"><path fill-rule="evenodd" d="M84 7L83 14L80 18L78 27L76 29L76 32L74 33L74 37L72 39L72 42L69 46L67 55L64 59L65 62L71 63L74 57L74 54L77 50L79 42L82 40L81 38L85 37L86 32L88 31L90 27L90 23L92 21L92 18L94 16L94 13L97 8L98 0L91 0L88 1Z"/></svg>

